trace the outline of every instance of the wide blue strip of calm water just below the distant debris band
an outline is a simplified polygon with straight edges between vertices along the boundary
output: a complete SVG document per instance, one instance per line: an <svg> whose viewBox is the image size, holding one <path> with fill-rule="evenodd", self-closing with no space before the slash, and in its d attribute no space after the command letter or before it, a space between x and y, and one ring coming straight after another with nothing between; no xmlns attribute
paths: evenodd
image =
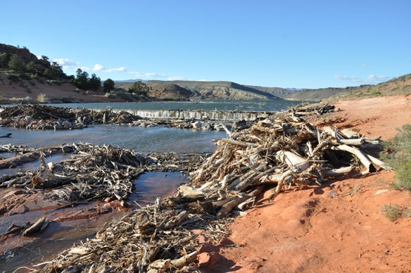
<svg viewBox="0 0 411 273"><path fill-rule="evenodd" d="M175 129L166 127L129 127L122 125L95 125L75 130L27 130L0 127L0 145L16 144L30 147L56 146L79 141L92 144L110 144L135 151L201 153L213 151L211 139L221 139L225 132Z"/></svg>

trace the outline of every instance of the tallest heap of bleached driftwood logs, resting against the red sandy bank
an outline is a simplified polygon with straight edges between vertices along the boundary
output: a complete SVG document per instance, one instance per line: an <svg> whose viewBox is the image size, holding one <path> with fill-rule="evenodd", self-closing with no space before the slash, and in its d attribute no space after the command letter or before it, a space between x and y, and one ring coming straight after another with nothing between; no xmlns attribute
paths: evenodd
<svg viewBox="0 0 411 273"><path fill-rule="evenodd" d="M344 174L377 172L386 165L365 149L379 148L379 137L366 138L350 130L314 127L303 117L332 110L327 104L296 108L255 122L217 142L217 150L180 186L179 196L213 201L218 216L255 204L264 186L275 186L267 199L288 184L321 184Z"/></svg>

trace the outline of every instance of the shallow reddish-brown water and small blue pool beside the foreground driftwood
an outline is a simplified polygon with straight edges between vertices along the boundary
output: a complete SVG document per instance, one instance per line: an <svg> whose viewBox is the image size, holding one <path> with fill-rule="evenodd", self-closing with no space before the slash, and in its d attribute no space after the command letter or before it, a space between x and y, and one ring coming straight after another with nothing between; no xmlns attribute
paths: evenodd
<svg viewBox="0 0 411 273"><path fill-rule="evenodd" d="M139 208L139 205L153 203L157 197L167 196L184 182L186 177L179 172L146 172L134 181L136 189L127 200L129 206L127 209L113 209L112 212L89 219L51 222L45 231L32 237L9 236L7 239L0 240L0 272L13 272L23 266L34 268L33 265L50 260L53 255L69 248L73 243L93 238L106 222L120 219L127 212ZM11 223L21 225L43 216L49 220L56 220L70 212L101 205L104 203L91 202L75 208L44 208L23 215L3 216L0 217L0 234L5 232Z"/></svg>

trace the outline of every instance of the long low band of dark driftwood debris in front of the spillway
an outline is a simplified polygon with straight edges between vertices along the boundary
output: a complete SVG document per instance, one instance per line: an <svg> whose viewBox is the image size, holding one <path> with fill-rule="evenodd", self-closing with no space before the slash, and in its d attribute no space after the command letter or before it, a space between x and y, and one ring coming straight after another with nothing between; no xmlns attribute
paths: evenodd
<svg viewBox="0 0 411 273"><path fill-rule="evenodd" d="M25 129L82 129L93 124L110 124L223 131L225 125L227 125L223 125L222 123L224 122L199 121L194 118L188 120L141 118L127 111L115 112L110 108L89 110L85 108L63 108L34 104L3 107L1 109L0 127ZM10 135L0 137L10 137Z"/></svg>

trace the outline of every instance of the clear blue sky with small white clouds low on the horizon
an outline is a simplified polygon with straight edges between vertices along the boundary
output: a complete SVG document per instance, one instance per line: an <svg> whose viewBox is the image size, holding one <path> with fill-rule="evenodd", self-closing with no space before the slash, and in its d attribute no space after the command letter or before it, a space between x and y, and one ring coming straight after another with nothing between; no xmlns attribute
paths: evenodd
<svg viewBox="0 0 411 273"><path fill-rule="evenodd" d="M411 72L411 1L2 1L0 43L101 80L266 87Z"/></svg>

